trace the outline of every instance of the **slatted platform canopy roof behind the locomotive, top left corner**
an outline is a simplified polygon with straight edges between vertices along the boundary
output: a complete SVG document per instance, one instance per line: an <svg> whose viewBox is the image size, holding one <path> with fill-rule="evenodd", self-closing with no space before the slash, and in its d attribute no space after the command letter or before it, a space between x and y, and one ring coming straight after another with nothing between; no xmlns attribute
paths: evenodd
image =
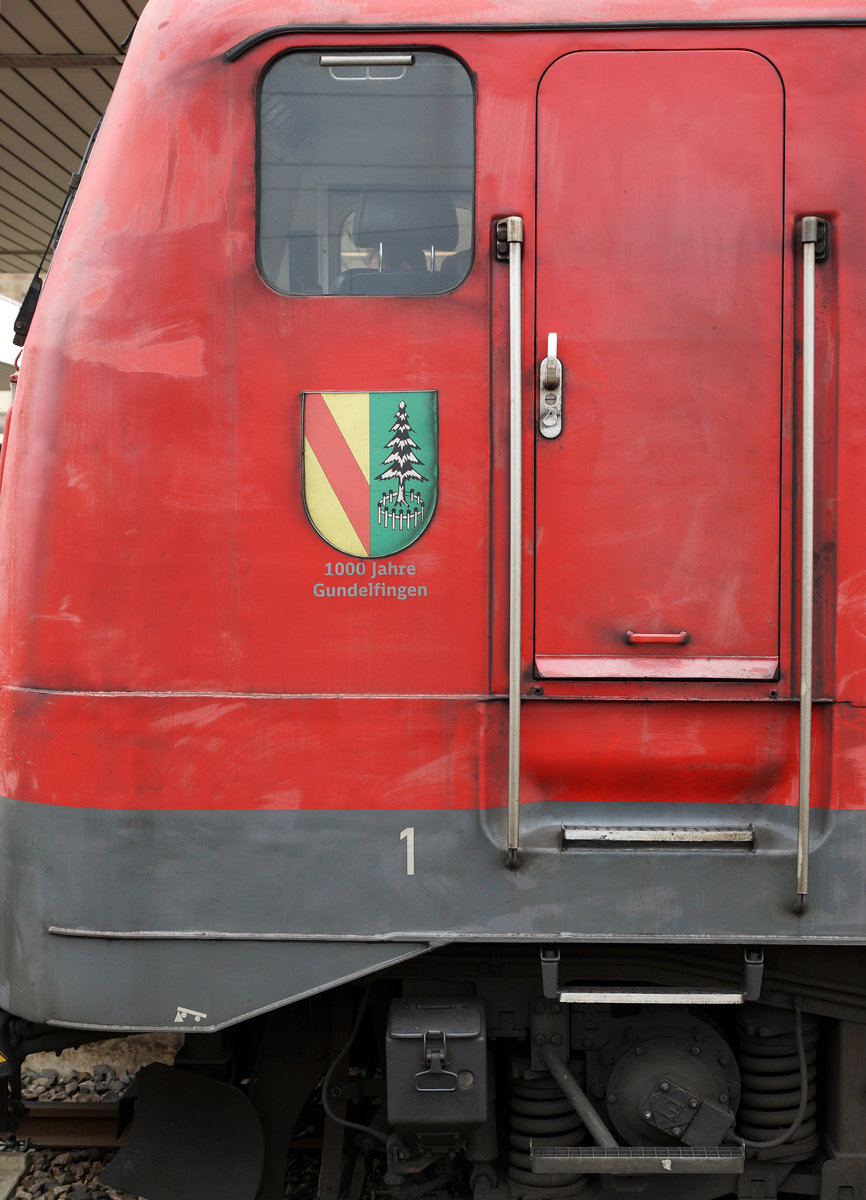
<svg viewBox="0 0 866 1200"><path fill-rule="evenodd" d="M146 0L1 0L0 272L50 239Z"/></svg>

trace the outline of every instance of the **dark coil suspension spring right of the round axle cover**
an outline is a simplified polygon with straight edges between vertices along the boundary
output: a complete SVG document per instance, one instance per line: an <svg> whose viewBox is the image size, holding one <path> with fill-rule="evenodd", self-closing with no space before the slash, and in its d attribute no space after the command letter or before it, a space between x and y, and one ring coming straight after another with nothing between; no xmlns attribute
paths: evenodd
<svg viewBox="0 0 866 1200"><path fill-rule="evenodd" d="M756 1020L746 1013L740 1022L738 1132L758 1158L795 1163L818 1147L818 1021L799 1007L764 1014Z"/></svg>

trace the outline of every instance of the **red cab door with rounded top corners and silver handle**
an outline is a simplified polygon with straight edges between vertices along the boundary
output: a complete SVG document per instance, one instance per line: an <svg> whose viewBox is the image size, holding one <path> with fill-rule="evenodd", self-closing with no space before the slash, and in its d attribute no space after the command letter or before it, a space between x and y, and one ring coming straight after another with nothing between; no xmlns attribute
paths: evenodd
<svg viewBox="0 0 866 1200"><path fill-rule="evenodd" d="M542 678L778 668L783 116L746 50L572 53L542 79Z"/></svg>

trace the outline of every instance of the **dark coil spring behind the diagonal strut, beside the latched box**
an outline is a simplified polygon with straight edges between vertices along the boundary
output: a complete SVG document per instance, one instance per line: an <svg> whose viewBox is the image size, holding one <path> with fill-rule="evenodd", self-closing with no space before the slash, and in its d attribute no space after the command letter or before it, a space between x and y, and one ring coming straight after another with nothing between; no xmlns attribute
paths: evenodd
<svg viewBox="0 0 866 1200"><path fill-rule="evenodd" d="M570 1063L581 1082L585 1066ZM589 1187L585 1175L537 1175L529 1156L530 1141L541 1146L581 1146L587 1129L563 1090L548 1074L511 1080L511 1127L509 1132L509 1178L512 1195L540 1200L542 1193L559 1198L578 1195Z"/></svg>

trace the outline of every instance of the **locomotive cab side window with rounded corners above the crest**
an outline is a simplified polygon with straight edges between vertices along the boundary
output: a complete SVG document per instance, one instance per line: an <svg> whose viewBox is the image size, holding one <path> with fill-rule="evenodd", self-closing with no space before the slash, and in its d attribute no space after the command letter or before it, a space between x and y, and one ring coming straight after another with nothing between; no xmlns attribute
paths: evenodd
<svg viewBox="0 0 866 1200"><path fill-rule="evenodd" d="M297 52L259 102L258 253L290 295L450 292L473 257L475 101L437 52Z"/></svg>

